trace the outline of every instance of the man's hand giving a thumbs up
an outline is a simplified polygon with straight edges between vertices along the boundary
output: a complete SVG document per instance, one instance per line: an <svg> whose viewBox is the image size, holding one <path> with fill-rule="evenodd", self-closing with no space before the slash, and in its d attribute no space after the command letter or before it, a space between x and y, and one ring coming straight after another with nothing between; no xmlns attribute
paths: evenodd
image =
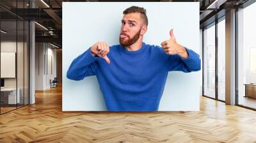
<svg viewBox="0 0 256 143"><path fill-rule="evenodd" d="M188 52L187 50L177 43L176 38L173 34L173 29L170 31L170 39L163 41L161 43L161 46L164 49L164 52L168 55L175 55L178 54L180 57L187 58L188 57Z"/></svg>

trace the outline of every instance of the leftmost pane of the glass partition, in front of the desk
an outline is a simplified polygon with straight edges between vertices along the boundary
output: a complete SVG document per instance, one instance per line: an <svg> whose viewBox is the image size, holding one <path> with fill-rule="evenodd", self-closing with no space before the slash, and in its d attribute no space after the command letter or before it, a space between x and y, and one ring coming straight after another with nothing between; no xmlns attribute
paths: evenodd
<svg viewBox="0 0 256 143"><path fill-rule="evenodd" d="M1 113L17 108L17 21L1 21ZM18 94L19 95L19 94Z"/></svg>

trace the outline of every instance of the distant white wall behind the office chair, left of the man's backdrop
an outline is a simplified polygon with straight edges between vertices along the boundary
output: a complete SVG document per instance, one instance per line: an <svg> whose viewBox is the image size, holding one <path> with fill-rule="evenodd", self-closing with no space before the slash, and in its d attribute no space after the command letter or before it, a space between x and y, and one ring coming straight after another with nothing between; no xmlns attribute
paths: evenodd
<svg viewBox="0 0 256 143"><path fill-rule="evenodd" d="M36 43L35 47L35 90L49 89L50 79L56 77L56 49L49 43Z"/></svg>

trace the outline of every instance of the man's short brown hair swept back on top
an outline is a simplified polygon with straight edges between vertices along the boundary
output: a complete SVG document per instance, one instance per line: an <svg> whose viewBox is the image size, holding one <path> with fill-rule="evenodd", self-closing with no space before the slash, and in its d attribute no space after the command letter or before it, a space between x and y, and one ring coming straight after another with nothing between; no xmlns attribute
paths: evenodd
<svg viewBox="0 0 256 143"><path fill-rule="evenodd" d="M144 23L148 26L148 17L146 15L146 9L139 7L139 6L131 6L124 10L123 14L129 14L129 13L141 13L141 19L144 20Z"/></svg>

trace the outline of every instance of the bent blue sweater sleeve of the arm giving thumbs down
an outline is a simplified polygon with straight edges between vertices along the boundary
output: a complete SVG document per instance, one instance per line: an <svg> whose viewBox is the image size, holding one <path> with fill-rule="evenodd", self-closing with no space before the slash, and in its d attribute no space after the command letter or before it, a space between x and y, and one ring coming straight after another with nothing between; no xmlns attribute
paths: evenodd
<svg viewBox="0 0 256 143"><path fill-rule="evenodd" d="M67 78L72 80L82 80L84 77L89 77L96 74L97 58L91 53L91 47L83 52L72 61L67 71Z"/></svg>

